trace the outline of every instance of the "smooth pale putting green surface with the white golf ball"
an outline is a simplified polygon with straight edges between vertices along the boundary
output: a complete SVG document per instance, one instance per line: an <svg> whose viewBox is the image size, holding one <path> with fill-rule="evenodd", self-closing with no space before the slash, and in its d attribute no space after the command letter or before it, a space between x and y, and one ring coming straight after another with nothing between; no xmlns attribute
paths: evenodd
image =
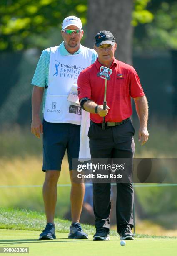
<svg viewBox="0 0 177 256"><path fill-rule="evenodd" d="M67 233L56 233L56 240L37 240L38 231L0 229L0 247L29 247L29 254L35 256L174 256L177 239L135 238L120 246L118 237L110 241L71 240ZM16 254L16 253L13 253Z"/></svg>

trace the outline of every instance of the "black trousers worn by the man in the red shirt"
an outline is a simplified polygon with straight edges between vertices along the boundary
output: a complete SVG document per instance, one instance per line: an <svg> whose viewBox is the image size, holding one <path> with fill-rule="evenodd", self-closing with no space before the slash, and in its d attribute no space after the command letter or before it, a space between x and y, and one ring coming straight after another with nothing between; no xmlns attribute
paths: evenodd
<svg viewBox="0 0 177 256"><path fill-rule="evenodd" d="M114 127L102 130L100 126L90 122L88 136L92 158L133 158L135 129L131 120ZM116 218L117 232L120 234L122 225L133 228L134 192L131 183L117 183ZM95 227L110 229L110 183L93 184L93 205Z"/></svg>

